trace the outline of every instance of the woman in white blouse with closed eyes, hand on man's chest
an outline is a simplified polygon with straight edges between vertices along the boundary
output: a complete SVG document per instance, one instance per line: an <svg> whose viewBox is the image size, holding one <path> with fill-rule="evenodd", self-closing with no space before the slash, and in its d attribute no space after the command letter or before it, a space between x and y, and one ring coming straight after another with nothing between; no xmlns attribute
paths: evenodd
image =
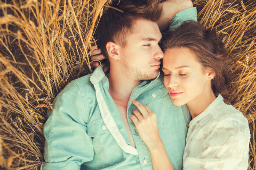
<svg viewBox="0 0 256 170"><path fill-rule="evenodd" d="M174 105L187 104L189 123L183 169L247 169L247 119L223 98L228 94L226 52L214 31L183 23L163 40L164 85ZM131 119L150 150L154 169L173 169L159 137L156 114L133 100ZM161 113L158 113L161 114Z"/></svg>

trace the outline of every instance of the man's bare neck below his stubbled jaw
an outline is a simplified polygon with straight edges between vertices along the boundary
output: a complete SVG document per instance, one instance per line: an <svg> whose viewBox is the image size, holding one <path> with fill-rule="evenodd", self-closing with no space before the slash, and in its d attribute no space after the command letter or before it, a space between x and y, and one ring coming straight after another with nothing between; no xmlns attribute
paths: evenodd
<svg viewBox="0 0 256 170"><path fill-rule="evenodd" d="M123 71L111 69L109 71L109 94L114 100L127 104L132 90L142 81L132 80Z"/></svg>

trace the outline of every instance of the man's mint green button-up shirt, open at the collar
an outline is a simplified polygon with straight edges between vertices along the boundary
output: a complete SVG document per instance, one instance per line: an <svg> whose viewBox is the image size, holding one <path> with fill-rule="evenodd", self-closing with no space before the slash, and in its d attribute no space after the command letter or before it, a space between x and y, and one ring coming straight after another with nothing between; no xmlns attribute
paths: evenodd
<svg viewBox="0 0 256 170"><path fill-rule="evenodd" d="M196 8L177 13L170 27L177 27L182 18L196 20ZM150 152L130 118L137 109L132 99L156 113L159 135L172 166L181 169L189 113L186 106L173 105L163 75L158 73L156 79L143 81L132 91L127 120L136 148L130 145L108 88L108 78L98 67L92 74L68 83L54 99L44 125L45 163L41 169L153 169Z"/></svg>

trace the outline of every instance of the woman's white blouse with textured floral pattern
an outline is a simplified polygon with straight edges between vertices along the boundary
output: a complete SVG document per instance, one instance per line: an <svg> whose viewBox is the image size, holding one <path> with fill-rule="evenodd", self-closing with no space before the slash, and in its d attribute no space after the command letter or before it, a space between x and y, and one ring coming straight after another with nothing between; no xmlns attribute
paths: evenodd
<svg viewBox="0 0 256 170"><path fill-rule="evenodd" d="M247 169L247 119L219 95L189 123L183 169Z"/></svg>

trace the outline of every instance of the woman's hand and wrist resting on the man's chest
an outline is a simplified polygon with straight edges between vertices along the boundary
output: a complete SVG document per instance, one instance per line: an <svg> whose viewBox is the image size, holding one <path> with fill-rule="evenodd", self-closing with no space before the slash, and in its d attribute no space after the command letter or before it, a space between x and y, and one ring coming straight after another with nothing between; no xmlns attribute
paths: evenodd
<svg viewBox="0 0 256 170"><path fill-rule="evenodd" d="M155 149L162 142L159 137L156 114L148 106L140 104L137 100L132 100L132 103L137 106L140 112L134 110L131 119L149 150Z"/></svg>

